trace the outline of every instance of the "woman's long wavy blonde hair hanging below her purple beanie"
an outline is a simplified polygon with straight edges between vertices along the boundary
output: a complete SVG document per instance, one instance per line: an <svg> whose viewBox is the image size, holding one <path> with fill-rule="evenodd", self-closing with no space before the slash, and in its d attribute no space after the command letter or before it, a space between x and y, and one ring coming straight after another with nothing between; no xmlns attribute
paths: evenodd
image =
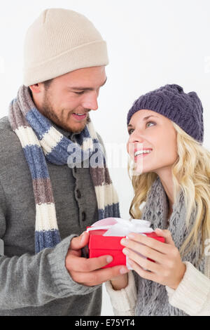
<svg viewBox="0 0 210 330"><path fill-rule="evenodd" d="M177 132L176 144L178 157L172 166L172 179L174 183L174 202L179 191L183 191L186 204L186 225L192 212L196 210L197 216L193 228L181 246L183 255L186 246L188 251L198 242L198 235L202 233L202 255L204 253L205 239L210 237L210 152L199 142L189 136L183 129L172 121ZM134 187L134 198L130 206L132 218L141 218L139 206L146 202L148 190L158 178L154 172L142 173L139 176L131 176L132 166L128 164L128 172ZM186 252L186 251L185 251Z"/></svg>

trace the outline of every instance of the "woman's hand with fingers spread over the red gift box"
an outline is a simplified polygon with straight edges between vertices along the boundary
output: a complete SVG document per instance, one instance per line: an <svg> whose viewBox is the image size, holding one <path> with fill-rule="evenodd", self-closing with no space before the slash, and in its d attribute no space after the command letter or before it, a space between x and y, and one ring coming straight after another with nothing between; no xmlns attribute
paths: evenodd
<svg viewBox="0 0 210 330"><path fill-rule="evenodd" d="M171 232L156 229L155 233L165 237L165 243L141 234L131 233L128 235L129 239L122 239L120 242L126 246L123 253L129 258L128 262L141 277L176 290L186 272L186 265L181 260ZM141 253L142 256L139 256L138 253Z"/></svg>

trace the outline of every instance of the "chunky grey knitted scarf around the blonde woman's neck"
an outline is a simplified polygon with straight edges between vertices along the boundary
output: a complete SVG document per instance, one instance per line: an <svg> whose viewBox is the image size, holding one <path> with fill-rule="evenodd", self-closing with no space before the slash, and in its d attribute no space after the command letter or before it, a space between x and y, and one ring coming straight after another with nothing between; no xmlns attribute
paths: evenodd
<svg viewBox="0 0 210 330"><path fill-rule="evenodd" d="M167 195L158 177L148 191L146 205L144 206L141 218L150 220L154 230L155 228L165 229L167 227L167 209ZM195 223L195 213L192 212L190 225L186 227L186 206L183 192L180 191L173 205L172 216L169 219L169 227L167 228L172 233L174 244L179 250L190 230L192 230ZM198 238L198 246L202 246L201 235ZM193 251L185 254L183 261L189 261L197 270L204 273L205 258L203 257L199 261L200 253L200 249L195 246ZM134 277L138 288L136 315L186 315L183 310L170 305L164 285L143 279L136 272L134 272Z"/></svg>

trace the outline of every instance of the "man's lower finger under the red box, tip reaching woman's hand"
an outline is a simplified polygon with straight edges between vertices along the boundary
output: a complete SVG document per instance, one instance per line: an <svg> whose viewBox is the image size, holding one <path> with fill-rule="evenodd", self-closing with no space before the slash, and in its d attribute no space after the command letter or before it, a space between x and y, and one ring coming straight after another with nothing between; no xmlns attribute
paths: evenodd
<svg viewBox="0 0 210 330"><path fill-rule="evenodd" d="M71 277L75 282L86 286L94 286L98 284L102 284L114 277L118 277L122 275L120 270L125 270L125 272L129 272L125 265L114 266L111 268L105 268L102 270L94 270L93 272L72 272ZM125 274L124 272L124 274Z"/></svg>

